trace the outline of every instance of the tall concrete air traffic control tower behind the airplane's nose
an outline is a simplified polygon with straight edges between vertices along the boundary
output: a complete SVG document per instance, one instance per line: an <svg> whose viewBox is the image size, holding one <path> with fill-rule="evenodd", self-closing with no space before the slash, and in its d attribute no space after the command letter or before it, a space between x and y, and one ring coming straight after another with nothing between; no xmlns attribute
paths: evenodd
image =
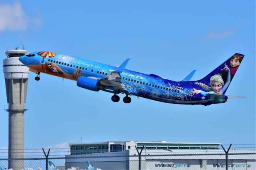
<svg viewBox="0 0 256 170"><path fill-rule="evenodd" d="M26 103L28 87L28 67L20 62L19 57L26 54L26 50L14 48L4 51L4 79L6 86L6 111L9 112L9 146L8 169L24 169L24 104Z"/></svg>

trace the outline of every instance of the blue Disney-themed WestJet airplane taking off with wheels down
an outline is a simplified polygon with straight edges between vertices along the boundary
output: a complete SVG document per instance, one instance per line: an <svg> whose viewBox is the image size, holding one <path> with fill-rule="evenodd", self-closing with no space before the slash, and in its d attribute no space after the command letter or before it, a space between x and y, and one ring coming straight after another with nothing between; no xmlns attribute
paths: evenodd
<svg viewBox="0 0 256 170"><path fill-rule="evenodd" d="M244 55L235 53L197 81L190 81L196 70L182 81L172 81L155 74L125 69L130 59L115 67L50 51L37 51L21 56L19 60L37 74L36 81L40 80L40 73L71 79L84 89L114 93L113 102L120 100L118 94L124 94L124 103L132 101L129 96L137 96L165 103L208 106L236 98L225 93L243 58Z"/></svg>

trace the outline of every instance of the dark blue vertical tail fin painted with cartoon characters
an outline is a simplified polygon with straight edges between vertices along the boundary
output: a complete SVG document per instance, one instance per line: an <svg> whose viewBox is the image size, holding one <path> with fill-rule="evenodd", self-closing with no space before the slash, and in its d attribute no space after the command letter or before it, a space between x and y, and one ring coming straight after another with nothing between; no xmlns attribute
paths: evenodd
<svg viewBox="0 0 256 170"><path fill-rule="evenodd" d="M238 67L240 67L242 60L244 59L243 54L235 53L230 58L228 58L224 63L206 75L204 78L198 81L191 81L192 83L202 87L207 91L214 91L212 87L213 82L219 82L220 85L220 93L225 94L228 86L230 85Z"/></svg>

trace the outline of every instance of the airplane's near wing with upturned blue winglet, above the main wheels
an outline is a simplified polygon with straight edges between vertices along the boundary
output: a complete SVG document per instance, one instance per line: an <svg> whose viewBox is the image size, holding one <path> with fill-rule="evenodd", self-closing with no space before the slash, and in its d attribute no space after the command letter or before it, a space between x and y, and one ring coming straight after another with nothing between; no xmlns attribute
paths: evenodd
<svg viewBox="0 0 256 170"><path fill-rule="evenodd" d="M125 66L127 65L130 59L126 59L115 71L112 71L106 77L99 79L102 85L112 86L115 90L122 89L128 91L124 84L121 82L120 73L124 71Z"/></svg>

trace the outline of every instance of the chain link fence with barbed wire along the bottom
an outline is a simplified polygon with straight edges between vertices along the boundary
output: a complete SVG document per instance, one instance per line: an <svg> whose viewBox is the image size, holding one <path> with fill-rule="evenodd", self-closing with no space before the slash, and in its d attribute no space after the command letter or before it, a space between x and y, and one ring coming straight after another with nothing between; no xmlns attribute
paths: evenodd
<svg viewBox="0 0 256 170"><path fill-rule="evenodd" d="M231 149L228 157L224 150L139 149L80 155L60 151L60 155L51 155L56 154L53 151L48 158L47 152L46 156L35 156L37 153L12 159L0 156L0 170L7 170L10 161L16 161L18 170L256 170L255 149Z"/></svg>

